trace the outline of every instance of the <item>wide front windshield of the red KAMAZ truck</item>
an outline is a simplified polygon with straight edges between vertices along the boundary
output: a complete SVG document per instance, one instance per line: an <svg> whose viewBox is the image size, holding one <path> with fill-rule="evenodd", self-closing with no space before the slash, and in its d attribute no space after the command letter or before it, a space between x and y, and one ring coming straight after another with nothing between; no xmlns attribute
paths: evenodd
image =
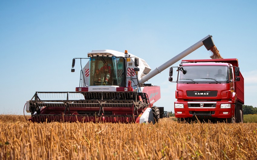
<svg viewBox="0 0 257 160"><path fill-rule="evenodd" d="M178 72L178 82L224 83L228 81L227 66L182 66ZM184 73L183 73L184 70ZM185 72L186 70L186 72Z"/></svg>

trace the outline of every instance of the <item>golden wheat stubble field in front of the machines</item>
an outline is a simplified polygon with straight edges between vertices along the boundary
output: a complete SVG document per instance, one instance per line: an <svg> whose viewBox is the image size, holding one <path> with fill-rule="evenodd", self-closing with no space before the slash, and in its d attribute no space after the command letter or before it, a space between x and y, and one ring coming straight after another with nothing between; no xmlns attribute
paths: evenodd
<svg viewBox="0 0 257 160"><path fill-rule="evenodd" d="M0 159L257 157L256 123L31 123L0 115L0 130Z"/></svg>

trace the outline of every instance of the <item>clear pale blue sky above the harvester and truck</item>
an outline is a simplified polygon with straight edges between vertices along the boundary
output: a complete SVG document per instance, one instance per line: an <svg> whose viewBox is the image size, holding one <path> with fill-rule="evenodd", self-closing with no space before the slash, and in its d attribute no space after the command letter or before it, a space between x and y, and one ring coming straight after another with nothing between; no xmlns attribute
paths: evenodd
<svg viewBox="0 0 257 160"><path fill-rule="evenodd" d="M128 50L155 69L208 34L223 58L239 59L245 104L257 107L256 1L0 1L0 114L23 114L35 91L75 91L74 57ZM210 59L202 46L184 59ZM175 63L173 66L177 66ZM77 66L79 66L77 64ZM174 111L168 69L156 106Z"/></svg>

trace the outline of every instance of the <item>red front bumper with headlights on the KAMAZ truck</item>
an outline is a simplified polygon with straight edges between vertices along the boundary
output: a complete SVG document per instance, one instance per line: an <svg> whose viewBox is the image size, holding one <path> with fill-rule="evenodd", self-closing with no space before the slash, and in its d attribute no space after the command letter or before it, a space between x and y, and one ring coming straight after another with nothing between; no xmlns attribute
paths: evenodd
<svg viewBox="0 0 257 160"><path fill-rule="evenodd" d="M203 104L203 107L191 107L190 103L193 104ZM235 104L232 104L231 101L217 101L212 102L216 104L215 107L205 107L205 104L210 104L210 101L175 101L174 104L184 104L184 108L175 108L175 117L177 118L192 118L197 116L200 119L210 119L210 118L232 118L234 117ZM230 108L220 108L221 104L231 104ZM210 105L209 105L210 106Z"/></svg>

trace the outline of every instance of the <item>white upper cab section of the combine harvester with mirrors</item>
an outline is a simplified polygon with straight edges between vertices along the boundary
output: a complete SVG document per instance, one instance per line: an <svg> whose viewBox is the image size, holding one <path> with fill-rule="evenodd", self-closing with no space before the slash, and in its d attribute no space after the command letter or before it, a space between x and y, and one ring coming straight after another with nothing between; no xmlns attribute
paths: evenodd
<svg viewBox="0 0 257 160"><path fill-rule="evenodd" d="M92 50L89 61L81 69L81 86L76 91L138 91L138 78L148 74L151 68L144 59L125 50ZM73 59L73 67L75 63ZM136 63L135 63L136 62ZM72 69L72 71L74 71ZM101 86L101 87L99 87Z"/></svg>

